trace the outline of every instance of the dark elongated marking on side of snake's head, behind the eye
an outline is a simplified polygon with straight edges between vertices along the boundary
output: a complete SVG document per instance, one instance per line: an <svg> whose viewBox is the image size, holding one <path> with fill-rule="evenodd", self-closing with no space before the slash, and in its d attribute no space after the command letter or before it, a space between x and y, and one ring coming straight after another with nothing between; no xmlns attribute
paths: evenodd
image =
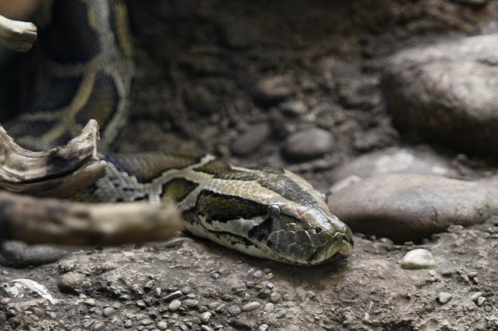
<svg viewBox="0 0 498 331"><path fill-rule="evenodd" d="M264 217L268 206L239 196L215 193L202 190L193 208L184 212L185 220L197 219L198 215L206 217L206 221L226 223L239 218L251 219Z"/></svg>

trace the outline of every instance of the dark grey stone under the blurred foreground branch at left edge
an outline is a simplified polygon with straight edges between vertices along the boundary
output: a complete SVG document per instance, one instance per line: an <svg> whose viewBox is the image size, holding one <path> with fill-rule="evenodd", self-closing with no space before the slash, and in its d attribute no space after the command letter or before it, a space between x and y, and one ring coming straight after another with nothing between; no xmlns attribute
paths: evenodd
<svg viewBox="0 0 498 331"><path fill-rule="evenodd" d="M69 251L54 245L27 245L18 241L6 241L0 245L1 265L26 267L52 263L67 255Z"/></svg>

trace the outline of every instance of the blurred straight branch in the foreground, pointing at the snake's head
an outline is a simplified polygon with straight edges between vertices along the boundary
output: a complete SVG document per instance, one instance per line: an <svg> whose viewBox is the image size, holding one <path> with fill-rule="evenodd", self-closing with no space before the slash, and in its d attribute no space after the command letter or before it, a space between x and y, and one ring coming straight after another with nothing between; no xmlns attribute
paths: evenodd
<svg viewBox="0 0 498 331"><path fill-rule="evenodd" d="M173 202L85 204L0 191L1 240L121 245L160 241L180 230Z"/></svg>

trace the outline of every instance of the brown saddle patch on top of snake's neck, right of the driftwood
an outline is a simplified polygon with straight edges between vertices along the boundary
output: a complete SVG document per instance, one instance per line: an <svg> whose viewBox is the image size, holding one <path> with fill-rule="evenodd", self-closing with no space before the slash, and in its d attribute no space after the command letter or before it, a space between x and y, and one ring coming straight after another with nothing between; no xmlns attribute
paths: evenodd
<svg viewBox="0 0 498 331"><path fill-rule="evenodd" d="M139 183L149 183L161 173L171 169L182 169L199 163L204 154L150 152L136 154L108 154L105 161L111 162L118 171L135 176Z"/></svg>

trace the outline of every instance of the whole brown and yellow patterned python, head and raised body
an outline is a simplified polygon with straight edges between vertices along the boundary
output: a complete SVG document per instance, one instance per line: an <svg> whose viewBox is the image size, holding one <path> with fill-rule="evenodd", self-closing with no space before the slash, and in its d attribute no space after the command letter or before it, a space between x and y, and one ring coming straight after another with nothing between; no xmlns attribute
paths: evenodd
<svg viewBox="0 0 498 331"><path fill-rule="evenodd" d="M88 122L108 150L127 118L133 75L123 0L52 0L42 10L31 51L36 70L26 111L5 125L27 148L66 143ZM317 264L351 252L352 233L325 197L298 175L243 168L207 154L102 154L107 174L92 199L171 199L192 234L228 248L292 264Z"/></svg>

